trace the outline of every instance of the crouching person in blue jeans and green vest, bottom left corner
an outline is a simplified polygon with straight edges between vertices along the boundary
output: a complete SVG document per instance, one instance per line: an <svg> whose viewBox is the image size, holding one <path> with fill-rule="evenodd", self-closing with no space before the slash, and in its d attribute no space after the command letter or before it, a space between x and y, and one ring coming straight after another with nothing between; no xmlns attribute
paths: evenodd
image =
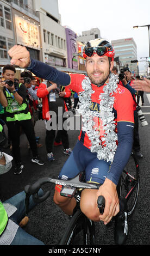
<svg viewBox="0 0 150 256"><path fill-rule="evenodd" d="M0 130L2 130L2 128L3 127L0 125ZM11 169L11 161L12 156L0 151L0 175L7 173ZM42 190L40 190L39 195L43 195ZM3 203L0 199L0 246L44 245L42 241L29 235L18 224L26 214L25 197L26 195L24 191L22 191ZM35 205L31 196L29 200L29 210L32 210Z"/></svg>

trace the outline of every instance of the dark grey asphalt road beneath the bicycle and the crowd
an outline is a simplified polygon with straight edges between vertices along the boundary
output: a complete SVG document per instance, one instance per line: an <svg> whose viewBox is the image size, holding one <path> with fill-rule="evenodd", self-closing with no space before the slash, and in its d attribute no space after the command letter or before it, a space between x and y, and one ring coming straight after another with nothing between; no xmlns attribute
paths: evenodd
<svg viewBox="0 0 150 256"><path fill-rule="evenodd" d="M128 218L128 239L126 245L149 245L149 166L150 166L150 103L145 93L145 106L142 107L148 125L141 127L139 123L139 134L141 152L143 159L140 159L140 191L134 214ZM6 129L7 130L7 129ZM68 156L63 154L62 146L54 147L54 162L48 162L45 147L45 123L37 121L35 125L36 136L40 136L43 147L39 149L41 158L45 161L44 166L39 166L30 161L31 154L27 147L27 139L21 135L21 155L24 168L22 174L14 175L13 169L0 177L0 195L5 200L21 192L27 184L33 184L39 178L49 176L57 178L61 167ZM73 148L77 142L79 131L68 131L70 147ZM9 149L4 150L11 154ZM42 240L45 245L57 245L69 220L54 203L54 185L48 184L43 190L50 190L51 195L45 201L36 206L29 214L29 223L25 230ZM114 223L105 226L103 223L96 223L96 245L114 245Z"/></svg>

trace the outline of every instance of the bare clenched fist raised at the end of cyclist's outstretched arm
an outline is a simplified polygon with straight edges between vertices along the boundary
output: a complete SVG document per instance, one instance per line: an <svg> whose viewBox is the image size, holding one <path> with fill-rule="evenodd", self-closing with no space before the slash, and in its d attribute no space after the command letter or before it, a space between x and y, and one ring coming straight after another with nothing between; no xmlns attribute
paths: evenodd
<svg viewBox="0 0 150 256"><path fill-rule="evenodd" d="M20 68L27 68L30 63L30 53L26 47L21 45L14 45L8 51L11 57L11 65L20 66Z"/></svg>

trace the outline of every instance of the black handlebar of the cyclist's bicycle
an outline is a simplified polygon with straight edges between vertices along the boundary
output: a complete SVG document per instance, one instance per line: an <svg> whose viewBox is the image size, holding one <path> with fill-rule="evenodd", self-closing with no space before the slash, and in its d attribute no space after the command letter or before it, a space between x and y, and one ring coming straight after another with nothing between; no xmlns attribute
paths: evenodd
<svg viewBox="0 0 150 256"><path fill-rule="evenodd" d="M89 189L98 189L99 186L101 186L101 184L90 184L90 183L80 182L79 175L71 180L59 180L59 179L52 179L49 177L41 178L37 180L33 185L27 185L24 188L24 191L26 192L26 194L33 195L33 200L35 203L41 203L45 201L50 195L50 191L47 191L42 197L39 197L38 195L38 192L41 186L46 183L54 183L62 186L68 185L70 187L89 188ZM105 207L105 199L103 196L98 197L97 204L98 204L99 212L103 214L104 207Z"/></svg>

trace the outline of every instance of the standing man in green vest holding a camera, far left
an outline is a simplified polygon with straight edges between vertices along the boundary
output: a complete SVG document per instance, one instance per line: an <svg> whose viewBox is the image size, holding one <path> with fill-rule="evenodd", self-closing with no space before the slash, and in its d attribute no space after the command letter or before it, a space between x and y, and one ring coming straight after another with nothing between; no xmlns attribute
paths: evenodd
<svg viewBox="0 0 150 256"><path fill-rule="evenodd" d="M20 127L29 141L33 153L32 162L40 165L44 163L37 153L34 127L26 100L26 87L24 84L14 84L15 73L16 70L13 65L4 66L4 81L0 81L0 102L5 107L5 123L8 127L12 154L16 164L14 174L20 174L23 168L20 155Z"/></svg>

